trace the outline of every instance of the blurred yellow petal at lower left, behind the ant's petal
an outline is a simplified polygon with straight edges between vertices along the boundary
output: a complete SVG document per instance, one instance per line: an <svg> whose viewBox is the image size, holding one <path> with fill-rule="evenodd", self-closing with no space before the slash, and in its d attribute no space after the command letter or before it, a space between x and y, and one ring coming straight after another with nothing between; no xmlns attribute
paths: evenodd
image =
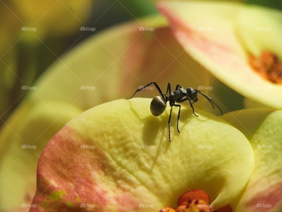
<svg viewBox="0 0 282 212"><path fill-rule="evenodd" d="M1 130L0 210L15 211L31 203L36 166L46 140L82 111L62 102L25 104ZM10 128L11 127L11 128Z"/></svg>

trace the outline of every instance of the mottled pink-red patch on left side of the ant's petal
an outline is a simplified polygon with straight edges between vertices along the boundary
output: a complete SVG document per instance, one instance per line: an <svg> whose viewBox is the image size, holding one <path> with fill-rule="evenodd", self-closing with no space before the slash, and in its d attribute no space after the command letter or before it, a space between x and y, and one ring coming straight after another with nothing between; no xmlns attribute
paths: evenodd
<svg viewBox="0 0 282 212"><path fill-rule="evenodd" d="M95 205L98 211L104 211L110 205L122 205L119 211L127 211L138 205L132 194L114 188L109 190L110 185L101 183L106 174L113 173L100 148L90 151L81 149L80 154L73 154L78 150L73 143L81 142L66 125L47 144L37 167L38 188L33 204L38 208L31 211L68 211L68 202L74 205L71 209L78 211L88 209L81 207L81 204ZM55 151L47 151L49 148ZM94 157L89 157L90 153ZM54 193L61 195L53 198Z"/></svg>

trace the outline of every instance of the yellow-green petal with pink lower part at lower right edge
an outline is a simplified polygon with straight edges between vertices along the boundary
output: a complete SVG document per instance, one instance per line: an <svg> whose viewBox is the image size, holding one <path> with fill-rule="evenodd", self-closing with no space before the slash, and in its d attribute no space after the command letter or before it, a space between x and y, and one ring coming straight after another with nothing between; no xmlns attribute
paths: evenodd
<svg viewBox="0 0 282 212"><path fill-rule="evenodd" d="M281 211L282 111L254 108L234 111L223 118L244 133L255 155L254 171L249 183L232 203L236 212Z"/></svg>

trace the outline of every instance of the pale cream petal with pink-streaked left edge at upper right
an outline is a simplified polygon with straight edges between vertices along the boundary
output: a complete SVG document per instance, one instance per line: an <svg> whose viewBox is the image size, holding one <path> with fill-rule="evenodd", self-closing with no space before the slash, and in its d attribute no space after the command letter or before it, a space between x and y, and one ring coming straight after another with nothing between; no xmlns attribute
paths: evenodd
<svg viewBox="0 0 282 212"><path fill-rule="evenodd" d="M282 86L264 80L249 66L246 45L234 30L240 29L236 15L247 13L249 8L236 2L177 1L161 2L158 9L185 51L214 77L251 100L281 109L281 95L273 94L281 93ZM271 93L258 86L270 87Z"/></svg>

